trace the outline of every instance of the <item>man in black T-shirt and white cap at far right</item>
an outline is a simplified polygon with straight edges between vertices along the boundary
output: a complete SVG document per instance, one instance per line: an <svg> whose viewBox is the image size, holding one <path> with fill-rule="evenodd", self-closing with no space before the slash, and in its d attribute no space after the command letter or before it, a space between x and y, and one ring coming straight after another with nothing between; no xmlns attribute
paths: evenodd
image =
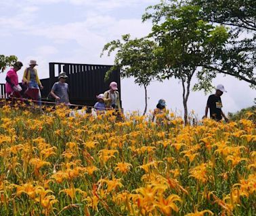
<svg viewBox="0 0 256 216"><path fill-rule="evenodd" d="M218 84L216 87L215 94L211 94L207 100L207 106L205 108L205 115L203 118L206 118L208 115L208 109L210 109L210 117L211 119L215 119L215 121L221 121L222 117L225 121L228 122L228 118L222 111L222 102L221 95L223 92L227 92L223 86L223 84Z"/></svg>

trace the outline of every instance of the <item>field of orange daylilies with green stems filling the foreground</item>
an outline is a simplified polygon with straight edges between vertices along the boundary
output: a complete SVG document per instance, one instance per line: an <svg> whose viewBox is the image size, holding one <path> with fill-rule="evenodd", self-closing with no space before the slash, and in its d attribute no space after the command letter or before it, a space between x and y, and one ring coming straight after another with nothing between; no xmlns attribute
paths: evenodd
<svg viewBox="0 0 256 216"><path fill-rule="evenodd" d="M0 215L256 214L256 113L185 127L68 112L0 109Z"/></svg>

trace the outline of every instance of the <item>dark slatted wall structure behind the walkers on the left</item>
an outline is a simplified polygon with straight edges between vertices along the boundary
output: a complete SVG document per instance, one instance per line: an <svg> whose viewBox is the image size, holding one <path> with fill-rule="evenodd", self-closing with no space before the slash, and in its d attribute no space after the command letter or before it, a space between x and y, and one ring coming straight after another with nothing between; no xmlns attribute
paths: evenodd
<svg viewBox="0 0 256 216"><path fill-rule="evenodd" d="M41 79L44 88L41 90L42 99L46 99L54 82L58 82L58 75L66 72L69 86L70 103L93 106L96 95L109 89L110 82L117 82L121 99L120 72L115 71L105 81L106 72L111 65L89 65L78 63L49 63L49 78ZM5 95L5 86L0 84L1 97Z"/></svg>

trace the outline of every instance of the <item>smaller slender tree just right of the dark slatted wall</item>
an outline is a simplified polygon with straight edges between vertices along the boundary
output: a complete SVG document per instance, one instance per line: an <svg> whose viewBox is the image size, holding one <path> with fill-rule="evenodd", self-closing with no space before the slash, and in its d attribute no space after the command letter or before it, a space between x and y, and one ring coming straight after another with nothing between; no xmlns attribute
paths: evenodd
<svg viewBox="0 0 256 216"><path fill-rule="evenodd" d="M156 45L154 41L146 38L135 38L131 40L129 34L122 36L122 40L111 41L104 46L104 51L108 56L113 51L117 51L114 59L114 65L110 68L108 74L114 70L121 70L121 77L135 78L135 83L144 87L145 90L145 115L148 107L147 87L154 78L157 70L157 60L155 57Z"/></svg>

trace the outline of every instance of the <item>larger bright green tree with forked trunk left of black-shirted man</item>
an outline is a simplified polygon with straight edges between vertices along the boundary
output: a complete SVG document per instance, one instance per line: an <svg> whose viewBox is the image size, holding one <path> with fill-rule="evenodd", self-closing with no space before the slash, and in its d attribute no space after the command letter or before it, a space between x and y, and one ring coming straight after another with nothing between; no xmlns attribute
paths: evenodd
<svg viewBox="0 0 256 216"><path fill-rule="evenodd" d="M184 121L188 124L187 103L192 77L197 76L200 88L211 88L214 75L205 65L217 61L228 40L228 32L223 26L215 27L201 20L198 6L162 5L154 7L152 14L146 14L144 20L153 18L150 36L158 43L158 62L162 68L158 77L174 77L182 82Z"/></svg>

